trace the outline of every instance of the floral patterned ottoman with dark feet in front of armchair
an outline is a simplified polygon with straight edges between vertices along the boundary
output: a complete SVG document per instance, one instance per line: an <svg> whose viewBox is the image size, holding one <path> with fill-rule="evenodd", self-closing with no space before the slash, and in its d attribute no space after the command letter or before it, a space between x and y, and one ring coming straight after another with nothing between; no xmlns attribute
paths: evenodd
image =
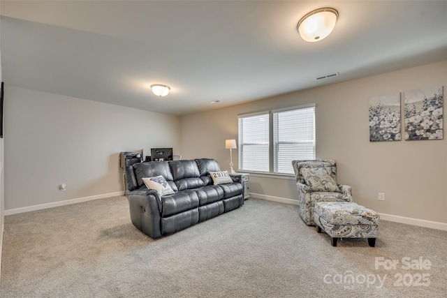
<svg viewBox="0 0 447 298"><path fill-rule="evenodd" d="M318 233L332 237L332 246L339 238L367 238L374 247L379 234L379 214L355 202L316 202L314 221Z"/></svg>

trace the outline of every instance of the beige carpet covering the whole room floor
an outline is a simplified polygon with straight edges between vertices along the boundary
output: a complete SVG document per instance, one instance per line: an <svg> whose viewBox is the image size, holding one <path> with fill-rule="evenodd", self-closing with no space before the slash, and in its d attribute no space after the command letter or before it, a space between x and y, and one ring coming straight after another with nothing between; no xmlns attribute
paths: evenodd
<svg viewBox="0 0 447 298"><path fill-rule="evenodd" d="M365 239L332 247L327 234L302 222L297 206L264 200L159 240L133 227L124 196L6 216L5 227L0 297L447 292L447 232L381 221L375 248ZM422 258L425 267L406 269L402 258ZM387 269L393 260L399 263Z"/></svg>

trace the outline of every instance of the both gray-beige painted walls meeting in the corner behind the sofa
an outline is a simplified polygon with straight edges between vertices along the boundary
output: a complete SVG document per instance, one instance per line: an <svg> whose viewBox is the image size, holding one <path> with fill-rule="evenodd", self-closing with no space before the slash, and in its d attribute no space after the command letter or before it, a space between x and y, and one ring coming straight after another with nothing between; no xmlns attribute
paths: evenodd
<svg viewBox="0 0 447 298"><path fill-rule="evenodd" d="M337 161L338 181L353 186L356 202L447 223L447 135L378 143L368 135L369 96L437 85L447 86L447 61L184 117L6 86L5 209L123 191L120 151L172 146L183 158L216 158L226 170L224 142L237 139L237 114L316 103L317 158ZM233 163L237 169L237 150ZM252 175L250 191L296 202L295 181L283 178Z"/></svg>

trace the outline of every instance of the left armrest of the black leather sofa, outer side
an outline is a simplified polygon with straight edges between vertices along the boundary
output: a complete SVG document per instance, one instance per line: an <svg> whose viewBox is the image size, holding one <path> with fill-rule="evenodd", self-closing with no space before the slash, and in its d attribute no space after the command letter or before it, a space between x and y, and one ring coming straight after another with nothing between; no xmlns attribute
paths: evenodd
<svg viewBox="0 0 447 298"><path fill-rule="evenodd" d="M135 228L152 239L161 237L161 200L157 191L147 188L131 191L129 211Z"/></svg>

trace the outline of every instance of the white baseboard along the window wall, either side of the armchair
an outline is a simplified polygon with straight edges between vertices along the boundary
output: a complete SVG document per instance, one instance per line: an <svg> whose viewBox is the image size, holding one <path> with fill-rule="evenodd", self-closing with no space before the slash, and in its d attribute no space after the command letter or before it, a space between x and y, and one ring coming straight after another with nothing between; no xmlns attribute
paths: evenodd
<svg viewBox="0 0 447 298"><path fill-rule="evenodd" d="M261 199L261 200L281 202L281 203L286 203L286 204L294 204L294 205L300 204L298 202L298 200L279 198L279 197L274 197L272 195L261 195L260 193L250 193L250 197L256 198L256 199ZM432 228L432 229L447 231L447 223L438 223L437 221L425 221L424 219L409 218L409 217L404 217L404 216L397 216L397 215L383 214L383 213L379 213L379 215L380 215L380 219L382 219L383 221L393 221L395 223L406 223L407 225L417 225L418 227Z"/></svg>

